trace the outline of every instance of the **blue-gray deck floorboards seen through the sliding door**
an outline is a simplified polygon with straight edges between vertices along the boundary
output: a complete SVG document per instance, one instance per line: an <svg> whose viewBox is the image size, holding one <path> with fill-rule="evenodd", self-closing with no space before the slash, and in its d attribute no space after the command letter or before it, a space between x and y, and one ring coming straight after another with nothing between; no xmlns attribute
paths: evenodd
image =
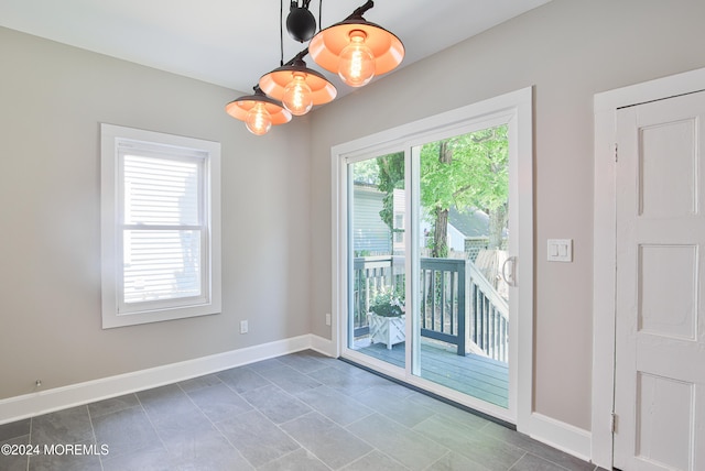
<svg viewBox="0 0 705 471"><path fill-rule="evenodd" d="M388 349L372 343L358 349L361 353L404 368L405 342ZM506 363L468 353L456 354L455 346L421 343L421 377L433 381L500 407L509 406L509 368Z"/></svg>

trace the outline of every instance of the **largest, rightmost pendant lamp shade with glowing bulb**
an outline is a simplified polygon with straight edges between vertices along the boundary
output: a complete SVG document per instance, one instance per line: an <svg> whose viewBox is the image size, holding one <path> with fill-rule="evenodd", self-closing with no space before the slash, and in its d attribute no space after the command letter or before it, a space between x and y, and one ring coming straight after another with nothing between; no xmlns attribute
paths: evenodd
<svg viewBox="0 0 705 471"><path fill-rule="evenodd" d="M373 6L368 1L344 21L319 31L308 44L315 63L338 74L351 87L361 87L376 75L393 70L404 58L399 37L362 18Z"/></svg>

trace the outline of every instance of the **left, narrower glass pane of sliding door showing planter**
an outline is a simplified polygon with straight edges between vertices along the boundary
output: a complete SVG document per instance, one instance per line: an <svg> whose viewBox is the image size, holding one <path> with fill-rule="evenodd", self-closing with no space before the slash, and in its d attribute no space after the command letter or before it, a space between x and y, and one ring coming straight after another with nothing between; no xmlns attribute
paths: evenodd
<svg viewBox="0 0 705 471"><path fill-rule="evenodd" d="M348 164L348 348L405 366L404 153Z"/></svg>

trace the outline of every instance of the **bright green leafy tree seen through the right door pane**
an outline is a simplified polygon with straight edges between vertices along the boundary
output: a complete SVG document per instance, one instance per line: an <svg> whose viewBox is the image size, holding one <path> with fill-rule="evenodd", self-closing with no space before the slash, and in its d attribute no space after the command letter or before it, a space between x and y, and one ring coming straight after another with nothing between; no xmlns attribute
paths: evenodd
<svg viewBox="0 0 705 471"><path fill-rule="evenodd" d="M490 219L490 247L507 226L509 182L507 125L425 144L421 150L421 205L433 224L432 256L447 256L452 206L477 208Z"/></svg>

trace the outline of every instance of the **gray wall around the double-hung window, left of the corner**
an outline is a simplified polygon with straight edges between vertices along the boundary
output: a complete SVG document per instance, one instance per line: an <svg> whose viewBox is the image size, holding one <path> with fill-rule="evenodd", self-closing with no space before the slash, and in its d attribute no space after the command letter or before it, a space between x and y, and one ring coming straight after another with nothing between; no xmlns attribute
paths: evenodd
<svg viewBox="0 0 705 471"><path fill-rule="evenodd" d="M0 57L0 399L310 332L306 120L256 138L243 94L7 29ZM223 314L101 329L100 122L221 143Z"/></svg>

